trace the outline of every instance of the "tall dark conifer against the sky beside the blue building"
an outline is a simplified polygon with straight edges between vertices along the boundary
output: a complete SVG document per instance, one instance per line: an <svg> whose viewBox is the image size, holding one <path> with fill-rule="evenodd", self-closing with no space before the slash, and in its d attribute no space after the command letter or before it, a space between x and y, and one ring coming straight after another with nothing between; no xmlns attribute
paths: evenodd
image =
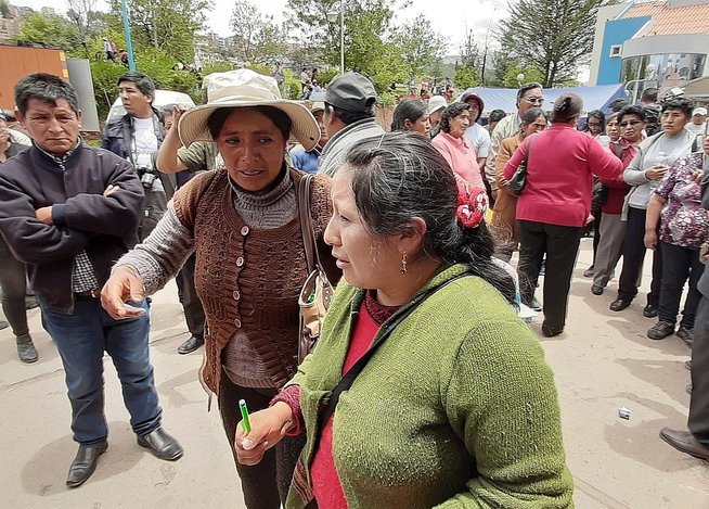
<svg viewBox="0 0 709 509"><path fill-rule="evenodd" d="M500 42L523 66L542 71L542 85L572 79L593 49L598 8L615 0L518 0L501 22Z"/></svg>

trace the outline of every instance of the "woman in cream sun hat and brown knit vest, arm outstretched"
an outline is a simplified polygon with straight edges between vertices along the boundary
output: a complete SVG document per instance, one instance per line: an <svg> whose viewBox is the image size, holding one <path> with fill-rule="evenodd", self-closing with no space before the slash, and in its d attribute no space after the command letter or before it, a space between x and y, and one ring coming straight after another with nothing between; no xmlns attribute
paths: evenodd
<svg viewBox="0 0 709 509"><path fill-rule="evenodd" d="M196 253L195 285L207 318L201 381L219 403L233 450L239 400L268 407L296 371L298 293L308 265L298 216L302 174L289 168L293 136L306 150L320 139L308 109L281 99L273 78L240 69L210 78L209 102L184 113L184 145L215 141L225 168L180 189L153 233L124 256L102 292L116 318L134 315L127 301L160 289ZM332 214L330 180L315 176L310 215L331 281L338 272L322 242ZM287 438L256 467L236 465L246 506L279 508L302 446Z"/></svg>

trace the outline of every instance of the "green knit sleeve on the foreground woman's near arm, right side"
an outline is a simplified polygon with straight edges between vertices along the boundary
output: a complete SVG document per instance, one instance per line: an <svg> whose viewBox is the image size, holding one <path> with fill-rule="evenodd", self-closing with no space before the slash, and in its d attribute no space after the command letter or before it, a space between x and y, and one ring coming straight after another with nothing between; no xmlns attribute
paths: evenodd
<svg viewBox="0 0 709 509"><path fill-rule="evenodd" d="M553 374L529 328L481 322L451 358L441 398L479 475L439 507L572 507Z"/></svg>

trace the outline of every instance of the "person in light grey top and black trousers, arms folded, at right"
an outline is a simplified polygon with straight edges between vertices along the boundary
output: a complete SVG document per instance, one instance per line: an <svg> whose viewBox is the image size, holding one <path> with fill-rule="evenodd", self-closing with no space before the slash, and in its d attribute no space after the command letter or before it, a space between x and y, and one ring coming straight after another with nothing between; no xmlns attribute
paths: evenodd
<svg viewBox="0 0 709 509"><path fill-rule="evenodd" d="M640 275L645 259L646 211L650 196L665 178L674 162L692 152L695 136L684 128L692 115L692 102L686 99L671 99L662 104L662 130L643 141L639 152L623 171L623 178L632 189L623 203L623 219L627 221L623 244L623 268L618 281L618 298L610 303L611 311L621 311L630 306L637 295ZM647 118L647 117L646 117ZM655 318L660 300L662 280L662 254L653 252L653 282L647 294L643 316Z"/></svg>

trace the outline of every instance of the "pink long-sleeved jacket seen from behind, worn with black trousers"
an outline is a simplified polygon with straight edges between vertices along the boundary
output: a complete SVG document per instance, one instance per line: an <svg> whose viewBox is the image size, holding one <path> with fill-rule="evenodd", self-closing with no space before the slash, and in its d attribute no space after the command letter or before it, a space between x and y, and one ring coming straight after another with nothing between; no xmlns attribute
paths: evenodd
<svg viewBox="0 0 709 509"><path fill-rule="evenodd" d="M527 138L505 164L510 180L530 140L527 182L517 200L517 219L582 227L591 213L593 175L615 179L622 163L594 138L568 124L555 124Z"/></svg>

